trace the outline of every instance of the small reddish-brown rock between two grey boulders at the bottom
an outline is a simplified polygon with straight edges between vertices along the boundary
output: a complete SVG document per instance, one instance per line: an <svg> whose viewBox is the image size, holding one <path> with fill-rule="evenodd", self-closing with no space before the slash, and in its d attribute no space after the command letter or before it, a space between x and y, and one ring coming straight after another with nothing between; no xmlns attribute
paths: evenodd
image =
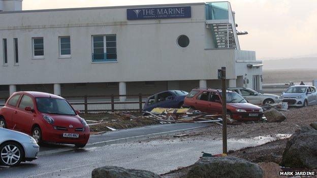
<svg viewBox="0 0 317 178"><path fill-rule="evenodd" d="M279 171L282 171L282 169L276 163L261 162L258 164L263 170L263 178L286 178L287 177L284 175L279 175Z"/></svg>

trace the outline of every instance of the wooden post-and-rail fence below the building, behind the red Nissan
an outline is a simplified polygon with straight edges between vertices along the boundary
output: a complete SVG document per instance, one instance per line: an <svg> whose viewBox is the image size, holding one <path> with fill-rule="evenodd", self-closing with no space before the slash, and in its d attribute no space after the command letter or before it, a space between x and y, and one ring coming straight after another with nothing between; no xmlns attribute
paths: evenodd
<svg viewBox="0 0 317 178"><path fill-rule="evenodd" d="M82 102L70 102L70 104L72 105L84 105L84 112L88 113L88 112L103 112L103 111L118 111L114 109L114 105L115 104L139 104L139 109L123 109L124 111L142 111L142 104L145 103L145 101L142 101L142 97L148 97L151 94L130 94L130 95L84 95L84 96L62 96L67 100L71 100L71 99L82 99ZM135 97L135 99L138 99L137 101L115 101L114 98L115 97L120 97L120 96L125 96L125 97ZM105 99L105 100L109 100L109 101L98 101L98 102L88 102L88 98L98 98L98 99ZM0 98L0 100L5 100L7 101L8 98ZM88 105L90 104L111 104L111 109L107 110L88 110ZM0 104L0 106L4 106L4 104Z"/></svg>

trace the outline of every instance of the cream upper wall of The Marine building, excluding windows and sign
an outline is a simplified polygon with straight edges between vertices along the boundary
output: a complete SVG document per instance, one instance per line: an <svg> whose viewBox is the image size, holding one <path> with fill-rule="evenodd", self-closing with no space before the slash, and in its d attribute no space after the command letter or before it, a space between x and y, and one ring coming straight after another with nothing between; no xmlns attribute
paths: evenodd
<svg viewBox="0 0 317 178"><path fill-rule="evenodd" d="M210 80L217 79L221 66L235 79L235 50L205 50L211 40L205 6L191 7L192 18L134 21L126 20L122 7L0 13L9 62L0 66L0 76L6 76L0 85ZM116 34L117 62L91 62L91 35L96 34ZM177 45L181 34L190 40L186 48ZM58 58L58 37L67 35L71 58ZM33 37L44 38L44 59L32 59ZM13 38L18 38L19 65L13 61Z"/></svg>

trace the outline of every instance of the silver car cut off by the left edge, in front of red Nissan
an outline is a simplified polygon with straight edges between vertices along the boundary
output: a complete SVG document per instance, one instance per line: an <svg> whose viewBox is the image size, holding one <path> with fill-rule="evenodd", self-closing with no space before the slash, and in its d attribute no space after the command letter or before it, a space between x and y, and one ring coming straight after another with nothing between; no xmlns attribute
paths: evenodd
<svg viewBox="0 0 317 178"><path fill-rule="evenodd" d="M16 166L20 162L37 159L39 145L24 133L0 128L0 165Z"/></svg>

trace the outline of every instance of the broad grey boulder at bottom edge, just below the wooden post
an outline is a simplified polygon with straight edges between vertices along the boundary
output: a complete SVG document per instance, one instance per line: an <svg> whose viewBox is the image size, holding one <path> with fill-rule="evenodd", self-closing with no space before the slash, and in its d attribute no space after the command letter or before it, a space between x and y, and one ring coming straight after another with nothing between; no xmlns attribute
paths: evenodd
<svg viewBox="0 0 317 178"><path fill-rule="evenodd" d="M262 178L263 171L258 164L241 158L203 157L188 171L187 178Z"/></svg>

